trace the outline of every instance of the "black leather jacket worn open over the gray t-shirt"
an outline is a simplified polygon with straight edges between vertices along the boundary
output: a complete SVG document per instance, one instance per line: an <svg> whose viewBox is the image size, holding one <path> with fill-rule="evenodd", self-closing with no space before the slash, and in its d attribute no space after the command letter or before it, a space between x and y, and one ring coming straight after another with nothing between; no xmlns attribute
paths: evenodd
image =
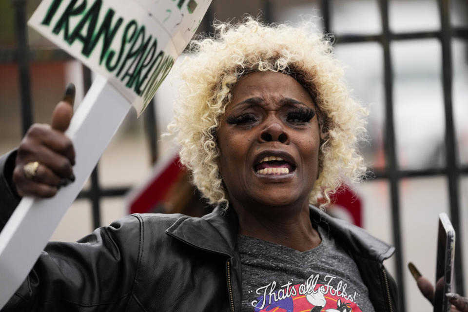
<svg viewBox="0 0 468 312"><path fill-rule="evenodd" d="M0 190L1 229L18 198L3 175ZM397 311L396 285L382 265L394 248L311 206L311 219L320 218L354 258L375 311ZM129 215L76 243L49 243L2 311L240 312L236 236L234 211Z"/></svg>

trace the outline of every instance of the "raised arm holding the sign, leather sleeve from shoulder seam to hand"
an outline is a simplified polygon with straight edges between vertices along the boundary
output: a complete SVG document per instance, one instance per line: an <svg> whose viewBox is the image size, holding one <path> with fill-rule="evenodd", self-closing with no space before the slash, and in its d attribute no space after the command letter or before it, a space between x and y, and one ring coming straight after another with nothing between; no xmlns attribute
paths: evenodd
<svg viewBox="0 0 468 312"><path fill-rule="evenodd" d="M0 230L22 196L51 197L74 180L75 151L64 135L74 95L67 86L51 125L32 125L18 149L0 157ZM127 216L78 242L50 242L1 312L139 311L132 289L140 229L140 220Z"/></svg>

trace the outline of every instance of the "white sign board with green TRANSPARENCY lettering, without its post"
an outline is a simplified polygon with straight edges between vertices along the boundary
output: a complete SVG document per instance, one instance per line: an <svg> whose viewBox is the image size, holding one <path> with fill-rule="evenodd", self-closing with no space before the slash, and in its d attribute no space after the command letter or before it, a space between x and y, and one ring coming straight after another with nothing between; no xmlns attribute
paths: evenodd
<svg viewBox="0 0 468 312"><path fill-rule="evenodd" d="M107 78L138 116L211 0L42 0L28 24Z"/></svg>

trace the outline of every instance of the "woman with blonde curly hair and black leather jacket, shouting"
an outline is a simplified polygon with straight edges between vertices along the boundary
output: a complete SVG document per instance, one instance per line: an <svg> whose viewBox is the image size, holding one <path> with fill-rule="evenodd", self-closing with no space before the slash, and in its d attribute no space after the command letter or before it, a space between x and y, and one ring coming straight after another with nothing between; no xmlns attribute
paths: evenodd
<svg viewBox="0 0 468 312"><path fill-rule="evenodd" d="M330 41L310 23L215 27L181 65L169 129L217 208L130 215L49 243L4 311L398 310L382 264L393 247L317 208L366 173L356 144L367 111L341 81ZM0 158L0 228L20 196L55 195L73 163L67 137L32 126Z"/></svg>

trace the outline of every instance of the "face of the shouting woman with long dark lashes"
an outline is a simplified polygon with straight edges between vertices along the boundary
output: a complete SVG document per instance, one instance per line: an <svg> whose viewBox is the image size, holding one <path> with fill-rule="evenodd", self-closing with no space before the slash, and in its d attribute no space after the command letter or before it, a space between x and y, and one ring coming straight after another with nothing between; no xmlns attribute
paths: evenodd
<svg viewBox="0 0 468 312"><path fill-rule="evenodd" d="M282 73L241 78L221 119L219 171L232 204L307 205L320 134L307 90Z"/></svg>

